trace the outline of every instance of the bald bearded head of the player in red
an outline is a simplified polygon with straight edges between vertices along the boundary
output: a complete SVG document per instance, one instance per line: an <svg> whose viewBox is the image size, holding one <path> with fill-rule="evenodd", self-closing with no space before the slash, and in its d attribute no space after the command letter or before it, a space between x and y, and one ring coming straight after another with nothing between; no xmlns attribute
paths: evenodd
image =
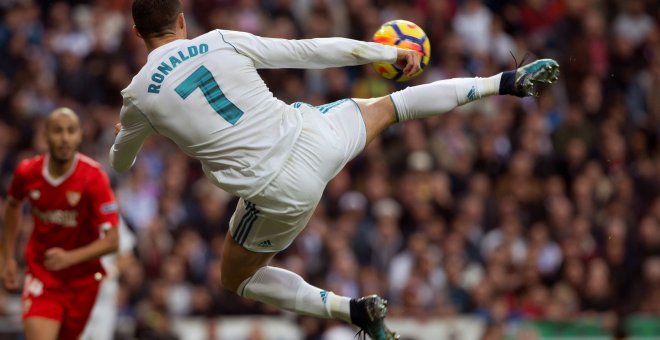
<svg viewBox="0 0 660 340"><path fill-rule="evenodd" d="M46 140L50 156L55 161L72 160L82 141L78 119L69 115L56 115L46 124Z"/></svg>

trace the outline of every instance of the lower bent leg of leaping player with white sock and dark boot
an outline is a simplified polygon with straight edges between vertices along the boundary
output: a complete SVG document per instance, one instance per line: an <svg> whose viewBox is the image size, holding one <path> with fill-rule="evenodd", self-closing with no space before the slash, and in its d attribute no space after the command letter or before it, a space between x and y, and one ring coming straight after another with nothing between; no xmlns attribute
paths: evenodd
<svg viewBox="0 0 660 340"><path fill-rule="evenodd" d="M221 258L223 285L245 298L297 314L343 320L374 340L398 339L383 323L387 301L376 295L351 299L314 287L296 273L268 266L274 255L251 252L228 236Z"/></svg>

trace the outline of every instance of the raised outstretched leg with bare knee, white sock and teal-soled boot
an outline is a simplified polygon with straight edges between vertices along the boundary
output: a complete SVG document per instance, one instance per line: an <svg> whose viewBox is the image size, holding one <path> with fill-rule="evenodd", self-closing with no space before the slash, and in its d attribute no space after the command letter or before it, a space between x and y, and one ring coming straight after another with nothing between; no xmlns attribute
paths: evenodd
<svg viewBox="0 0 660 340"><path fill-rule="evenodd" d="M355 99L367 126L367 142L388 126L436 116L492 95L535 96L539 87L559 78L559 64L540 59L487 78L454 78L411 86L389 96Z"/></svg>

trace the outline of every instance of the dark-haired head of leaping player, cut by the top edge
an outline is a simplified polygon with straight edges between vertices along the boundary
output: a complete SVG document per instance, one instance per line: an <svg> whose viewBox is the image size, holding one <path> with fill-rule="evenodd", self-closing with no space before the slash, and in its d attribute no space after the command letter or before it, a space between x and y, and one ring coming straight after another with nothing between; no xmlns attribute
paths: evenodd
<svg viewBox="0 0 660 340"><path fill-rule="evenodd" d="M142 38L157 38L174 32L183 11L181 0L134 0L133 22Z"/></svg>

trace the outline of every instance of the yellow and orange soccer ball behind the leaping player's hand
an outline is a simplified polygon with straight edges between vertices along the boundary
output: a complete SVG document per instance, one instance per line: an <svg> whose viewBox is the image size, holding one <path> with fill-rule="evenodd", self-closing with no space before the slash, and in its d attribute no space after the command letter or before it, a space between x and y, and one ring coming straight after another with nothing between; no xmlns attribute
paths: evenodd
<svg viewBox="0 0 660 340"><path fill-rule="evenodd" d="M422 55L419 71L411 76L405 76L403 70L393 64L385 62L373 63L376 72L387 79L399 82L410 80L420 75L429 64L431 43L429 43L426 33L415 23L406 20L388 21L374 33L373 41L384 45L414 50Z"/></svg>

